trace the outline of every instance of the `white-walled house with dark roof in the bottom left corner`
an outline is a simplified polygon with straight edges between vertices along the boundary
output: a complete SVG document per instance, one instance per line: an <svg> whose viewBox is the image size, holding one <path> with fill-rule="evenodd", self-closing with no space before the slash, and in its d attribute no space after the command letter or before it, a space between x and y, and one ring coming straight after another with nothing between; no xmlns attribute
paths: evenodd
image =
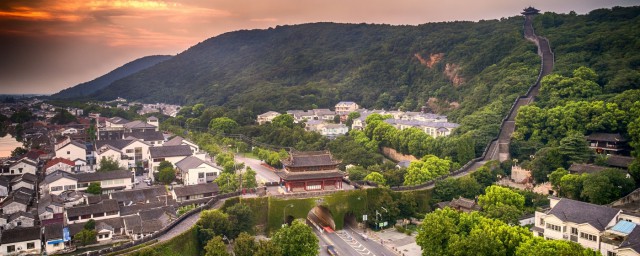
<svg viewBox="0 0 640 256"><path fill-rule="evenodd" d="M40 227L5 230L0 236L0 255L40 254Z"/></svg>

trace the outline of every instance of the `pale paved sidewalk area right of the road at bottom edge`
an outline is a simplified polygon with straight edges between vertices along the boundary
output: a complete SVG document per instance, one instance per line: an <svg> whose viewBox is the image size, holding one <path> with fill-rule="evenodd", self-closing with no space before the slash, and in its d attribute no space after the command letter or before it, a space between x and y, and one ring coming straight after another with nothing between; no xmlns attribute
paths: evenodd
<svg viewBox="0 0 640 256"><path fill-rule="evenodd" d="M411 236L398 232L395 228L385 229L379 232L367 230L372 241L382 243L382 246L403 256L421 256L422 248L416 243L416 234Z"/></svg>

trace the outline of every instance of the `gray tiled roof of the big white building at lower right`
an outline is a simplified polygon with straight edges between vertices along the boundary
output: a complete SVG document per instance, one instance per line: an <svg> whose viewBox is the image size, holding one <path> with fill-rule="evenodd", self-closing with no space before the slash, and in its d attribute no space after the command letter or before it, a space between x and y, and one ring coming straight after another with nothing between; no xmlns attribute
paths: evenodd
<svg viewBox="0 0 640 256"><path fill-rule="evenodd" d="M607 206L562 198L549 210L548 214L554 215L562 221L588 223L594 228L604 231L607 224L616 217L619 211L619 209Z"/></svg>

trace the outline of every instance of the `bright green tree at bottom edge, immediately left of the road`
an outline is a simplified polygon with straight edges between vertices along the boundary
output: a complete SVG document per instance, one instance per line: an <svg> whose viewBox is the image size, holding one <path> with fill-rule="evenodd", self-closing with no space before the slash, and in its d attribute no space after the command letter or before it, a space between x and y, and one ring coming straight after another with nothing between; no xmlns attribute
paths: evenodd
<svg viewBox="0 0 640 256"><path fill-rule="evenodd" d="M318 238L311 227L300 220L295 220L290 226L278 229L271 241L282 248L284 256L315 256L318 254Z"/></svg>

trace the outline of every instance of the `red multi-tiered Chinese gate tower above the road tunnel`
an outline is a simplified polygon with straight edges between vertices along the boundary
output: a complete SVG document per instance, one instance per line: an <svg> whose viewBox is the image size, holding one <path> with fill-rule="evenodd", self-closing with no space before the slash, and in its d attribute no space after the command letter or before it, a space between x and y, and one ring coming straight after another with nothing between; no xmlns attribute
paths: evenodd
<svg viewBox="0 0 640 256"><path fill-rule="evenodd" d="M342 189L344 173L340 161L328 151L291 152L282 160L284 170L276 172L286 192Z"/></svg>

